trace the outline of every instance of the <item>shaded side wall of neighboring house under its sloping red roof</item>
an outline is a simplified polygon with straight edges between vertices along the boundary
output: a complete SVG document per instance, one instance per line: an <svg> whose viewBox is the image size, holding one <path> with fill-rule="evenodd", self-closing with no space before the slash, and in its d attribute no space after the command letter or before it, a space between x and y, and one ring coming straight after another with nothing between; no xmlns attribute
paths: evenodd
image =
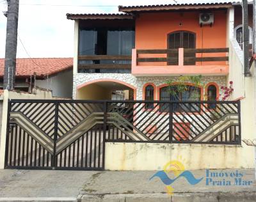
<svg viewBox="0 0 256 202"><path fill-rule="evenodd" d="M72 98L72 84L72 70L60 72L49 77L48 80L36 80L36 86L51 90L54 97L63 98Z"/></svg>

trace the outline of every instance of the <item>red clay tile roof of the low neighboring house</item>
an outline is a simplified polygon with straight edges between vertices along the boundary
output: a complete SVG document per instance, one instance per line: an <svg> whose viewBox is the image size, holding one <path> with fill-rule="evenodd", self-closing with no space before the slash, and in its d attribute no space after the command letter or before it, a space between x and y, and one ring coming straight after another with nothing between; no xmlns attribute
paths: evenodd
<svg viewBox="0 0 256 202"><path fill-rule="evenodd" d="M36 75L44 77L72 68L73 58L17 58L16 76L30 77ZM0 58L0 77L4 75L4 58Z"/></svg>

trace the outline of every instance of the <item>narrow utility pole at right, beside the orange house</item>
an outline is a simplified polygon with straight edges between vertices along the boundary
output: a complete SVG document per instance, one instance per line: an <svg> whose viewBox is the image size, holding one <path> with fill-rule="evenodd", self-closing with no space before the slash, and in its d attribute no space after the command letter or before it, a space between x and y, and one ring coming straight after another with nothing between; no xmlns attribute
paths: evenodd
<svg viewBox="0 0 256 202"><path fill-rule="evenodd" d="M243 0L243 52L244 52L244 76L250 76L249 66L249 28L248 28L248 1Z"/></svg>

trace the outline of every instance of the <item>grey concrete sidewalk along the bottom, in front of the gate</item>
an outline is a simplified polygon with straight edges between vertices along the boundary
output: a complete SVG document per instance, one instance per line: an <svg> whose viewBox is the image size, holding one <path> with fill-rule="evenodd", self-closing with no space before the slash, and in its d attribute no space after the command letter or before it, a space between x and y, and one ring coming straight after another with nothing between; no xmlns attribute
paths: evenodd
<svg viewBox="0 0 256 202"><path fill-rule="evenodd" d="M236 170L211 170L232 173ZM237 170L253 180L253 169ZM0 170L0 201L256 201L256 185L205 185L205 170L193 171L190 185L183 177L172 183L173 195L155 171ZM173 177L172 177L173 178ZM227 178L226 178L227 179ZM8 198L8 199L7 199Z"/></svg>

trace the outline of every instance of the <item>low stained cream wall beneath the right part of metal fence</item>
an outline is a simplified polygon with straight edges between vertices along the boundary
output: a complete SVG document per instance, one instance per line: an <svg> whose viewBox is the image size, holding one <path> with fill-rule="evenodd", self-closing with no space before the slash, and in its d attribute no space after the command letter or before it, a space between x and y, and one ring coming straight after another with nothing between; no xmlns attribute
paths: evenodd
<svg viewBox="0 0 256 202"><path fill-rule="evenodd" d="M159 170L170 160L185 169L252 168L253 149L217 144L106 143L109 170Z"/></svg>

